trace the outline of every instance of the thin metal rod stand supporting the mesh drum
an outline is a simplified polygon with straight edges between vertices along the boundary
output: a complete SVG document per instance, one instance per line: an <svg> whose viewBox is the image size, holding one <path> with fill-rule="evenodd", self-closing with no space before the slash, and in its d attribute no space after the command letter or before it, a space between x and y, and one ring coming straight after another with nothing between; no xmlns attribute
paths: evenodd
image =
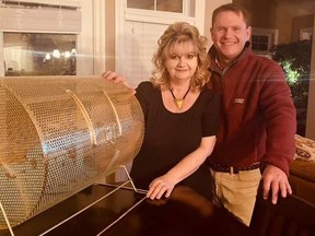
<svg viewBox="0 0 315 236"><path fill-rule="evenodd" d="M143 200L147 199L147 190L142 190L142 189L137 189L136 186L133 185L132 182L132 179L126 168L125 165L121 165L121 166L118 166L119 168L124 168L127 177L128 177L128 180L122 182L121 185L119 186L116 186L116 185L108 185L108 184L104 184L105 186L110 186L110 187L115 187L115 189L113 189L112 191L109 191L108 193L106 193L105 196L101 197L100 199L97 199L96 201L92 202L91 204L86 205L85 208L83 208L82 210L78 211L77 213L72 214L71 216L67 217L66 220L61 221L60 223L56 224L55 226L50 227L49 229L47 229L46 232L42 233L39 236L44 236L46 234L48 234L49 232L54 231L55 228L57 228L58 226L65 224L66 222L70 221L71 219L75 217L77 215L79 215L80 213L82 213L83 211L90 209L91 206L93 206L94 204L96 204L97 202L102 201L103 199L107 198L108 196L113 194L114 192L116 192L117 190L121 189L121 188L127 188L127 189L133 189L135 192L137 193L142 193L144 194L144 197L139 200L136 204L133 204L131 208L129 208L125 213L122 213L117 220L115 220L112 224L109 224L108 226L106 226L103 231L101 231L96 236L100 236L102 234L104 234L107 229L109 229L114 224L116 224L117 222L119 222L125 215L127 215L132 209L135 209L137 205L139 205ZM130 184L132 187L128 187L128 184ZM1 201L0 201L0 209L1 209L1 212L5 219L5 223L8 225L8 228L10 231L10 234L11 236L14 236L14 233L12 231L12 227L11 227L11 224L8 220L8 216L5 214L5 211L1 204Z"/></svg>

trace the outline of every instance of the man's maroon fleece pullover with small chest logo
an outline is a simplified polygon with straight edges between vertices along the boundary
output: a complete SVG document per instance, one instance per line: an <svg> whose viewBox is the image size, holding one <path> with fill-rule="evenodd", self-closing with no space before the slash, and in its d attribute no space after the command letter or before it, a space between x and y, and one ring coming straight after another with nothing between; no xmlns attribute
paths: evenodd
<svg viewBox="0 0 315 236"><path fill-rule="evenodd" d="M209 55L209 87L222 95L218 141L209 158L237 167L261 162L289 175L296 118L283 70L275 61L254 55L249 44L224 71L215 64L213 46Z"/></svg>

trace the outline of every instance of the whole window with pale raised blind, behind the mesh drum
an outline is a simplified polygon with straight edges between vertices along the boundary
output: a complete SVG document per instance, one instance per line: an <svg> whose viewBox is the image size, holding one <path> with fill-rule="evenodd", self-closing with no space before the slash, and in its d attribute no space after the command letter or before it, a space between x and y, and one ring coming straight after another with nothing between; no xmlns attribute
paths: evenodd
<svg viewBox="0 0 315 236"><path fill-rule="evenodd" d="M71 0L1 1L0 75L77 74L80 9Z"/></svg>

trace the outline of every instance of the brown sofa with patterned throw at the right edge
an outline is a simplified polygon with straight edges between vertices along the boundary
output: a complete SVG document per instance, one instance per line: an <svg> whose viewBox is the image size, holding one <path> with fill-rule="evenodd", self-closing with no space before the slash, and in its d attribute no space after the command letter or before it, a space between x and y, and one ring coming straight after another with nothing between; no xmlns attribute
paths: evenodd
<svg viewBox="0 0 315 236"><path fill-rule="evenodd" d="M315 141L295 134L295 146L289 181L293 194L315 205Z"/></svg>

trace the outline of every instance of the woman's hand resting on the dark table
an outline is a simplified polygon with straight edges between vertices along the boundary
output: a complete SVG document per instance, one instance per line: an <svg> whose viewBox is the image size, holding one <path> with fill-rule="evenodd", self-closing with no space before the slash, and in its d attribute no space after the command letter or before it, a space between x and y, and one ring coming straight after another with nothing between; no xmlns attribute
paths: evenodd
<svg viewBox="0 0 315 236"><path fill-rule="evenodd" d="M149 186L147 197L151 200L161 199L163 196L168 198L175 187L175 184L167 179L166 175L155 178Z"/></svg>

